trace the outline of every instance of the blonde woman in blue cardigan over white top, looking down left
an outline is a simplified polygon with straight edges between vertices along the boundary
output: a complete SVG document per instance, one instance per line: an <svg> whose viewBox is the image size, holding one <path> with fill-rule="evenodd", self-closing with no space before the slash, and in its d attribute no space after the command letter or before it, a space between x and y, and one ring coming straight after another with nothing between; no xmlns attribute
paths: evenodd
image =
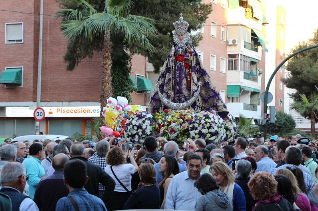
<svg viewBox="0 0 318 211"><path fill-rule="evenodd" d="M246 199L242 188L235 184L235 177L232 170L223 162L213 163L210 172L220 186L220 190L228 195L233 202L234 211L246 211Z"/></svg>

